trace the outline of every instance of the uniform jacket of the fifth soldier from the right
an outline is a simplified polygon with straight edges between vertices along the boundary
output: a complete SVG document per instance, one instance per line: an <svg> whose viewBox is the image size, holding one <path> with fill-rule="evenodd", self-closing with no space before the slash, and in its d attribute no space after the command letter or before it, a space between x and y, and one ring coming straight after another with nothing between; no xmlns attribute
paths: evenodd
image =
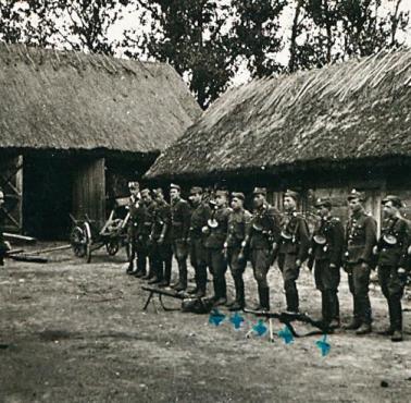
<svg viewBox="0 0 411 403"><path fill-rule="evenodd" d="M250 224L250 248L271 249L279 239L279 212L275 207L263 205L253 211Z"/></svg>

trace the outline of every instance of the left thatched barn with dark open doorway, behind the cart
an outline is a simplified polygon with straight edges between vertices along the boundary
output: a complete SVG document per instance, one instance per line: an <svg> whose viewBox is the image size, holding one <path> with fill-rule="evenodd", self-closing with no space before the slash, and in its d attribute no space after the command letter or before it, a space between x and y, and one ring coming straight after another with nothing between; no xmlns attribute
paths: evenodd
<svg viewBox="0 0 411 403"><path fill-rule="evenodd" d="M103 221L201 110L167 64L0 45L0 186L8 230L67 234Z"/></svg>

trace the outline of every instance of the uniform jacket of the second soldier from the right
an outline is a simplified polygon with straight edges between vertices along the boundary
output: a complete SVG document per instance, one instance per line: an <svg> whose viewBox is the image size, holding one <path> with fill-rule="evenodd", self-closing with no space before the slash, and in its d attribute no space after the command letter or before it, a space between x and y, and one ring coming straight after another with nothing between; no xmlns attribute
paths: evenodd
<svg viewBox="0 0 411 403"><path fill-rule="evenodd" d="M372 251L376 243L376 221L364 211L352 216L346 229L346 261L348 264L372 262Z"/></svg>

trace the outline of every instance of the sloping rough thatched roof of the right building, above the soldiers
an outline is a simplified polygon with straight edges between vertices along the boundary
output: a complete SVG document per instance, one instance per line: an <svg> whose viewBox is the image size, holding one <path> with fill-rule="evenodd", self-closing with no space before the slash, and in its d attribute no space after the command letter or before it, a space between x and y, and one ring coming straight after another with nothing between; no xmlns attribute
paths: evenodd
<svg viewBox="0 0 411 403"><path fill-rule="evenodd" d="M232 88L166 149L157 179L411 157L411 51Z"/></svg>

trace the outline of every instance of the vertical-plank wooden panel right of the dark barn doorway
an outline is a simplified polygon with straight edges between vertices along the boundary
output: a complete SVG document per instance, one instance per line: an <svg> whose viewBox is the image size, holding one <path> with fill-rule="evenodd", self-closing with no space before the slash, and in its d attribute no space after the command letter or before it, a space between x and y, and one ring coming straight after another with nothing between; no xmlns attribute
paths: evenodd
<svg viewBox="0 0 411 403"><path fill-rule="evenodd" d="M105 161L104 158L79 161L73 175L73 216L87 215L98 222L105 221Z"/></svg>

